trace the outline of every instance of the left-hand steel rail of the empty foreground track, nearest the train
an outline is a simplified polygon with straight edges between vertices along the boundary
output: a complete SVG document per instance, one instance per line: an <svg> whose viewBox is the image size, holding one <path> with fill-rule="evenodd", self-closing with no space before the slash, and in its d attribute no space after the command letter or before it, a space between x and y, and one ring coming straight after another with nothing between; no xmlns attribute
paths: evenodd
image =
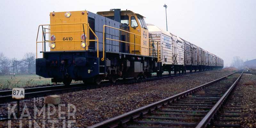
<svg viewBox="0 0 256 128"><path fill-rule="evenodd" d="M88 128L115 128L115 127L122 126L122 124L124 124L126 122L132 121L132 120L134 120L137 117L142 117L143 115L145 115L147 113L150 113L153 110L156 110L158 108L161 108L162 106L168 105L172 101L175 101L175 100L178 100L178 99L180 99L182 97L185 97L185 96L187 96L187 95L189 95L189 94L191 94L193 92L196 92L196 91L198 91L198 90L200 90L200 89L202 89L202 88L204 88L204 87L206 87L206 86L208 86L210 84L218 82L221 79L226 78L227 76L233 75L236 72L231 73L231 74L226 75L226 76L223 76L223 77L221 77L219 79L213 80L213 81L208 82L206 84L197 86L195 88L189 89L189 90L187 90L185 92L181 92L179 94L176 94L176 95L173 95L171 97L165 98L163 100L157 101L155 103L149 104L147 106L144 106L144 107L132 110L130 112L124 113L124 114L122 114L120 116L113 117L113 118L108 119L106 121L103 121L101 123L92 125L92 126L90 126Z"/></svg>

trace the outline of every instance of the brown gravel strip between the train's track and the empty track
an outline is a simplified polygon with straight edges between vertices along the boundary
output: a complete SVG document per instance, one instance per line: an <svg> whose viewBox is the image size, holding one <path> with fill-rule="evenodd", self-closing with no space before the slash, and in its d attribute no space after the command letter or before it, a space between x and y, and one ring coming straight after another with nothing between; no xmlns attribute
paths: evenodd
<svg viewBox="0 0 256 128"><path fill-rule="evenodd" d="M170 97L179 92L205 84L228 75L232 71L234 71L234 69L212 70L137 84L115 85L61 94L61 104L65 104L65 107L61 107L61 111L66 112L63 114L66 119L59 119L58 112L56 112L51 116L50 120L55 118L59 121L59 123L55 123L55 127L62 127L63 120L65 120L66 125L68 125L67 104L73 104L76 107L76 119L72 117L71 119L75 120L76 123L73 123L72 127L88 127L111 117ZM21 103L21 106L24 106L24 103L26 103L28 107L32 107L29 108L29 112L33 113L33 101L24 101ZM36 106L42 106L42 104L36 104ZM4 115L4 111L7 111L6 107L7 105L0 106L2 115ZM58 108L59 107L56 106L57 111ZM38 123L39 126L42 125L42 120L46 120L46 127L52 125L48 123L48 119L44 119L42 115L37 117L37 119L33 119L33 117L34 116L31 115L32 122ZM28 120L27 118L22 118L23 127L28 127ZM7 123L8 121L1 122L0 127L7 127ZM18 126L19 120L14 119L11 124L12 127Z"/></svg>

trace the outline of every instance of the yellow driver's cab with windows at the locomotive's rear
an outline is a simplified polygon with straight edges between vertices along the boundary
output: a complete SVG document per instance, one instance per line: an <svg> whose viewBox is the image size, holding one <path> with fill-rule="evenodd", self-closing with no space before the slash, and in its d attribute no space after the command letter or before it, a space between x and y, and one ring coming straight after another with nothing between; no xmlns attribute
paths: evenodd
<svg viewBox="0 0 256 128"><path fill-rule="evenodd" d="M121 11L120 9L111 9L111 11L97 12L97 14L120 22L121 29L136 34L128 35L127 33L122 32L121 39L123 41L130 41L131 43L137 44L135 47L132 44L122 44L120 49L122 52L134 53L137 55L149 55L148 28L144 21L145 17L129 10Z"/></svg>

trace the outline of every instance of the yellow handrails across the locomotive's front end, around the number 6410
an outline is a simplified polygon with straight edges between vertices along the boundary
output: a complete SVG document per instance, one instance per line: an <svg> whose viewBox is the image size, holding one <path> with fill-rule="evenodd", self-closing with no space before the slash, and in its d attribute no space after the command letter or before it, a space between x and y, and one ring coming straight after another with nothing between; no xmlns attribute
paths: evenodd
<svg viewBox="0 0 256 128"><path fill-rule="evenodd" d="M97 40L85 40L85 41L88 42L88 46L89 46L89 41L97 41L97 57L99 58L99 38L92 31L92 28L89 26L89 23L66 23L66 24L44 24L44 25L39 25L38 26L38 30L37 30L37 36L36 36L36 58L37 58L37 43L49 42L49 45L50 45L50 42L71 42L71 41L46 41L46 40L44 40L44 34L46 34L46 33L68 33L68 31L64 31L64 32L44 32L43 31L43 33L42 33L43 34L42 35L43 36L43 41L37 41L38 40L38 33L39 33L40 27L49 26L48 30L50 30L50 26L55 26L55 25L75 25L75 24L86 25L90 29L92 34L97 38ZM84 28L84 26L83 26L83 28ZM84 32L84 31L69 31L69 32ZM50 35L49 35L49 37L50 37ZM72 41L84 41L84 40L72 40ZM44 44L42 44L42 47L43 47L43 51L44 51Z"/></svg>

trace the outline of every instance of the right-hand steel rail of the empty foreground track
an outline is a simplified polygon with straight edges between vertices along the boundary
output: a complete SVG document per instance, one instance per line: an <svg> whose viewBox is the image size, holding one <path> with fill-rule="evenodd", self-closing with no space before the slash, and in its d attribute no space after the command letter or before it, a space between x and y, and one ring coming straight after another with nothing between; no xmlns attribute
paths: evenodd
<svg viewBox="0 0 256 128"><path fill-rule="evenodd" d="M243 71L244 72L244 71ZM240 80L241 76L243 75L243 72L241 75L236 79L236 81L229 87L228 91L225 92L225 94L220 98L220 100L213 106L213 108L204 116L204 118L197 124L196 128L205 128L208 124L210 124L211 119L213 119L213 116L217 113L217 111L220 109L223 102L226 100L230 92L234 89L238 81Z"/></svg>

